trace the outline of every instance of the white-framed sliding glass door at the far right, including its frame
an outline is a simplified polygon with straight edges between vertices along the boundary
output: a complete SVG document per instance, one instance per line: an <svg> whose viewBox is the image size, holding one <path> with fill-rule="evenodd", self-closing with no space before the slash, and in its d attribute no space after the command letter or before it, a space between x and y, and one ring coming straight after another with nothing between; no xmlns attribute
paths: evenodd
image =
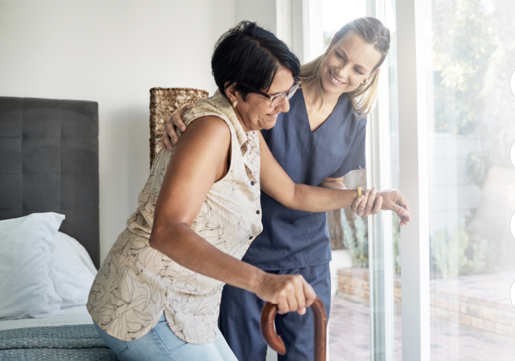
<svg viewBox="0 0 515 361"><path fill-rule="evenodd" d="M403 359L513 359L515 4L396 5Z"/></svg>

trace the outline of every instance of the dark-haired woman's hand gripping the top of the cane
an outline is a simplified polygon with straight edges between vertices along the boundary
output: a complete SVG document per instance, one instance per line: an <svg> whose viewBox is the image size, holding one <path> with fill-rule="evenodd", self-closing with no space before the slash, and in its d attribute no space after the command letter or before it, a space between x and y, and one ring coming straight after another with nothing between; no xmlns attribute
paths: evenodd
<svg viewBox="0 0 515 361"><path fill-rule="evenodd" d="M276 304L280 314L297 311L300 315L306 313L306 307L317 297L300 274L265 273L255 294L263 301Z"/></svg>

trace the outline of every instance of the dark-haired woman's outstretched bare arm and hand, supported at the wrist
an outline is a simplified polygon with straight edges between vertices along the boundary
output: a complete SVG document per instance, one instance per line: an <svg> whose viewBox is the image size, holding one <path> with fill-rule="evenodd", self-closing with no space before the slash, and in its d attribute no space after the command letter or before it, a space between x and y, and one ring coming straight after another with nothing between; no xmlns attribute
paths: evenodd
<svg viewBox="0 0 515 361"><path fill-rule="evenodd" d="M305 184L294 183L288 174L282 169L277 160L270 152L262 135L260 137L261 152L261 189L273 199L285 207L310 212L323 212L332 209L355 206L358 198L355 189L341 189L336 186L313 187ZM331 179L325 178L325 182ZM343 184L342 184L343 185ZM336 189L335 189L336 188ZM345 188L345 187L343 187ZM375 189L373 189L375 193ZM367 195L369 192L367 191ZM374 194L375 195L375 194ZM377 192L378 198L375 203L370 204L370 209L393 210L402 217L401 224L407 224L409 218L409 206L406 199L398 190ZM380 203L382 202L382 203ZM367 208L369 204L367 204ZM375 213L378 209L373 209Z"/></svg>

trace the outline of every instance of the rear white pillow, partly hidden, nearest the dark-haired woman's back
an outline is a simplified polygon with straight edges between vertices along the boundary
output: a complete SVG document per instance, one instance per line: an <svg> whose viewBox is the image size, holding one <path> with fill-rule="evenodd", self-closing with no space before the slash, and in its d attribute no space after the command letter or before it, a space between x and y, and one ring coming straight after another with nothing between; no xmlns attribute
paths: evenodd
<svg viewBox="0 0 515 361"><path fill-rule="evenodd" d="M85 305L97 270L88 251L75 238L58 232L54 237L56 251L48 274L62 308Z"/></svg>

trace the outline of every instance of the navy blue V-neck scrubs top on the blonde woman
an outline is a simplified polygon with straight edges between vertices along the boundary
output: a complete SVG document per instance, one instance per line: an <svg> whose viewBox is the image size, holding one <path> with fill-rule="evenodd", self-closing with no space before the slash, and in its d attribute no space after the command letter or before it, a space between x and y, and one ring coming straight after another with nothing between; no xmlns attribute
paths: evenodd
<svg viewBox="0 0 515 361"><path fill-rule="evenodd" d="M270 151L295 183L318 186L365 168L366 118L357 119L351 100L342 94L331 116L311 131L302 90L276 125L262 130ZM263 232L243 260L265 270L302 268L331 260L326 212L292 210L261 192Z"/></svg>

